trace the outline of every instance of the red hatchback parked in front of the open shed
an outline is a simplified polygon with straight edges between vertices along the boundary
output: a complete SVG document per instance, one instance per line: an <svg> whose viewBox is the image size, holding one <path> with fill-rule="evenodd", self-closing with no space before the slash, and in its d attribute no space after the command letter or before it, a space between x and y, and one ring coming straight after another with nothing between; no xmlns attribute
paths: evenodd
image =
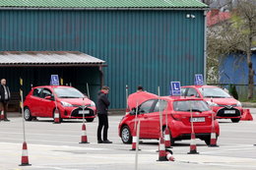
<svg viewBox="0 0 256 170"><path fill-rule="evenodd" d="M84 101L83 101L84 98ZM56 105L62 119L83 118L93 122L96 117L96 104L78 89L64 85L32 87L24 101L24 118L31 121L35 117L53 118Z"/></svg>

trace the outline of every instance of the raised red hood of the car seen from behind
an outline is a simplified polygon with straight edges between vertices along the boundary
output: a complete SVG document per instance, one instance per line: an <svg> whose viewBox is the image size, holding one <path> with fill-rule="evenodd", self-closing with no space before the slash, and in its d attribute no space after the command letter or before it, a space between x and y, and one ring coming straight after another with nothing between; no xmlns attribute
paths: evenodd
<svg viewBox="0 0 256 170"><path fill-rule="evenodd" d="M146 92L146 91L140 91L140 92L134 92L132 94L130 94L128 96L127 102L128 102L128 107L131 110L132 108L135 108L143 103L144 101L151 99L151 98L158 98L159 96L154 94L154 93L150 93L150 92Z"/></svg>

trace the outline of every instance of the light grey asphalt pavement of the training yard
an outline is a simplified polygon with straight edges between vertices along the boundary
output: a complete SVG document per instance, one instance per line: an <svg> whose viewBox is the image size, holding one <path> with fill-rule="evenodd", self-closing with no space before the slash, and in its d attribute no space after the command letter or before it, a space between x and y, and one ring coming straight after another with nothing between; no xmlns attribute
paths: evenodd
<svg viewBox="0 0 256 170"><path fill-rule="evenodd" d="M220 147L208 147L196 140L199 154L187 154L190 141L175 142L174 162L157 161L157 140L140 142L139 170L195 169L240 170L256 169L256 108L251 108L254 121L231 123L219 120ZM124 115L124 113L123 113ZM39 118L25 122L29 160L32 166L19 166L24 142L23 120L10 116L11 122L0 122L0 170L134 170L135 151L118 137L121 113L109 116L109 140L112 144L96 142L97 119L86 123L90 143L81 144L82 121L64 120L53 124L52 119Z"/></svg>

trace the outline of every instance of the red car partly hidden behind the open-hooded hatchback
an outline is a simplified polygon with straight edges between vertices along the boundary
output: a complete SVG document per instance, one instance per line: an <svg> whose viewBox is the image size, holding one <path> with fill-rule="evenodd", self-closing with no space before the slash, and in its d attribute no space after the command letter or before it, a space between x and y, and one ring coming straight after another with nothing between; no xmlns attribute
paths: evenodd
<svg viewBox="0 0 256 170"><path fill-rule="evenodd" d="M242 115L242 105L224 89L212 85L181 86L183 96L194 96L204 99L216 113L218 119L231 119L236 123Z"/></svg>

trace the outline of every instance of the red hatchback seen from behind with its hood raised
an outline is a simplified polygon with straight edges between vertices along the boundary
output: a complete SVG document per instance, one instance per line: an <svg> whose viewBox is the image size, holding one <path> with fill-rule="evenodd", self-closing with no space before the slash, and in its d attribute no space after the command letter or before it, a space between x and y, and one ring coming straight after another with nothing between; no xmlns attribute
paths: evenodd
<svg viewBox="0 0 256 170"><path fill-rule="evenodd" d="M133 103L134 106L135 103L138 103L138 98L141 98L139 93L132 98L129 97L128 104ZM159 99L155 94L149 98L144 101L140 100L141 103L138 103L137 119L141 122L140 139L160 138L160 108L162 108L162 130L169 129L170 142L172 144L175 141L190 140L192 121L196 138L210 144L213 111L204 100L179 96L163 96ZM135 132L135 120L135 108L131 110L130 114L122 118L118 127L118 134L122 142L132 142L132 133ZM220 127L217 120L214 120L214 125L218 138Z"/></svg>

